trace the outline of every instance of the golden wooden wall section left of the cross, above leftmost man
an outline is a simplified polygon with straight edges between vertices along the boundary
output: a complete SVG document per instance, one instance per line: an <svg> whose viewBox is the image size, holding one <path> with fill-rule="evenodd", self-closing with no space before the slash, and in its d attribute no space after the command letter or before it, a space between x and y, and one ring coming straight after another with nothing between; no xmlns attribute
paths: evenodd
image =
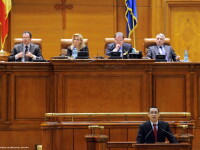
<svg viewBox="0 0 200 150"><path fill-rule="evenodd" d="M60 3L60 1L56 0L51 3L39 0L34 2L14 0L11 18L11 41L13 42L16 37L21 37L22 32L31 31L33 38L43 40L42 54L45 59L57 56L60 53L62 15L61 12L55 10L54 4L56 3Z"/></svg>

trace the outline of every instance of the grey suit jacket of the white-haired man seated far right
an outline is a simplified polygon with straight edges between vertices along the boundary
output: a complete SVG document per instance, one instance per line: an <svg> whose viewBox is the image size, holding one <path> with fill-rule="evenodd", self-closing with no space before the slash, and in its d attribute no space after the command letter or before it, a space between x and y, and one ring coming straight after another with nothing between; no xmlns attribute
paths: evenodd
<svg viewBox="0 0 200 150"><path fill-rule="evenodd" d="M176 54L171 46L163 45L168 61L176 61ZM156 59L156 55L160 55L159 48L156 45L149 46L147 51L147 57Z"/></svg>

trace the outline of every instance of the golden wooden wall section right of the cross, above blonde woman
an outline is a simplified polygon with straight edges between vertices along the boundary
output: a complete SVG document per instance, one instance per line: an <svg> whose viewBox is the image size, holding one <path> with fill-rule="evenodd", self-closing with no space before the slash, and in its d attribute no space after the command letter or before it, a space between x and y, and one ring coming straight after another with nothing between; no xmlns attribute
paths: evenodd
<svg viewBox="0 0 200 150"><path fill-rule="evenodd" d="M72 10L67 10L67 29L62 38L71 38L74 33L81 33L89 39L90 56L94 57L103 50L105 37L114 34L114 0L101 2L78 1L71 3ZM98 36L97 36L98 35Z"/></svg>

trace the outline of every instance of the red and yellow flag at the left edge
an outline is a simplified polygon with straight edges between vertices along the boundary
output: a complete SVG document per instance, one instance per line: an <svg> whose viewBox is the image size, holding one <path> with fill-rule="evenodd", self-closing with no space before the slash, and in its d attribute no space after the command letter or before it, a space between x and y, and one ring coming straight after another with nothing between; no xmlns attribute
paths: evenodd
<svg viewBox="0 0 200 150"><path fill-rule="evenodd" d="M8 14L11 10L11 0L0 0L0 28L1 48L4 48L5 39L8 36Z"/></svg>

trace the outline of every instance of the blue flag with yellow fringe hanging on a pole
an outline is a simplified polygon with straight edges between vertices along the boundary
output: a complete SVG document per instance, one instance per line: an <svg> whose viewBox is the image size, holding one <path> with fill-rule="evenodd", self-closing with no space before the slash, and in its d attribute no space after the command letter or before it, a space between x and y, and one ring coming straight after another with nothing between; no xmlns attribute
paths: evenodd
<svg viewBox="0 0 200 150"><path fill-rule="evenodd" d="M137 27L137 7L136 0L125 0L126 13L125 18L127 21L126 24L126 34L130 38L131 33Z"/></svg>

